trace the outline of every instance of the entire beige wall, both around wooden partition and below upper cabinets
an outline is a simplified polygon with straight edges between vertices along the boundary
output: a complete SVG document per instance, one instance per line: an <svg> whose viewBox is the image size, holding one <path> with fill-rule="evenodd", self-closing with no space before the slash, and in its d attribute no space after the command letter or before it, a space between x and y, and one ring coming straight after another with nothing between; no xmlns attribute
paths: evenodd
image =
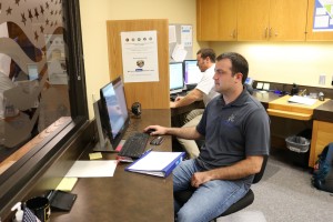
<svg viewBox="0 0 333 222"><path fill-rule="evenodd" d="M193 24L193 53L206 42L196 42L195 0L80 0L87 95L90 118L92 94L109 79L107 20L169 19L170 23ZM211 42L218 54L242 53L255 80L331 88L333 77L332 43ZM319 75L326 84L319 85Z"/></svg>

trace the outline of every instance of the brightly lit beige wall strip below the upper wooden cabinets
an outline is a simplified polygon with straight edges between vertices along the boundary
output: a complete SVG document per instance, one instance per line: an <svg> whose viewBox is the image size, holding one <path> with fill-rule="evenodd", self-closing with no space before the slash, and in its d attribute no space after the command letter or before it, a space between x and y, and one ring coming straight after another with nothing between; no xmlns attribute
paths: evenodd
<svg viewBox="0 0 333 222"><path fill-rule="evenodd" d="M332 88L333 44L327 42L213 42L216 53L235 51L250 65L249 75L255 80ZM319 77L326 75L324 85Z"/></svg>

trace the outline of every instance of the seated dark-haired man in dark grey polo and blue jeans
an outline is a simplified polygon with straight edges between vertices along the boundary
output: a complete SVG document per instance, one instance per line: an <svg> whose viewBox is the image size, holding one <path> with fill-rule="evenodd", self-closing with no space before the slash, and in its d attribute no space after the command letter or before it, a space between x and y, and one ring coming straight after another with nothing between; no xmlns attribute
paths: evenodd
<svg viewBox="0 0 333 222"><path fill-rule="evenodd" d="M174 192L196 189L183 206L175 202L179 222L210 221L228 210L246 194L269 154L270 119L243 87L248 72L241 54L219 56L214 82L221 95L208 104L196 127L144 129L154 129L153 135L205 138L199 157L181 162L173 171Z"/></svg>

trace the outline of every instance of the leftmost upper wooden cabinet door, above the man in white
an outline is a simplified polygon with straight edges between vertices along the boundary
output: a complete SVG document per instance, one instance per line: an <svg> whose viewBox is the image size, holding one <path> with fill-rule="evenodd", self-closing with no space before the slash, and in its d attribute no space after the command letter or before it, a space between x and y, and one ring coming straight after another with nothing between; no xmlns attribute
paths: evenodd
<svg viewBox="0 0 333 222"><path fill-rule="evenodd" d="M196 39L236 40L236 6L235 0L196 0Z"/></svg>

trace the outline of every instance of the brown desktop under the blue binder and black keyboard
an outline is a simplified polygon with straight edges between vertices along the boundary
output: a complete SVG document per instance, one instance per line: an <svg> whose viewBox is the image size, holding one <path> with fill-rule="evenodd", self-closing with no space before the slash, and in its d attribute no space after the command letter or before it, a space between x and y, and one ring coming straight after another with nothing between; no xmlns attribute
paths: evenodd
<svg viewBox="0 0 333 222"><path fill-rule="evenodd" d="M170 110L143 110L141 119L131 119L132 131L142 131L149 124L170 127ZM154 150L171 151L171 137ZM81 157L88 160L91 150ZM104 160L114 160L115 153L103 153ZM78 199L70 213L52 212L51 221L173 221L172 175L167 179L125 172L120 163L113 178L79 179L72 193Z"/></svg>

